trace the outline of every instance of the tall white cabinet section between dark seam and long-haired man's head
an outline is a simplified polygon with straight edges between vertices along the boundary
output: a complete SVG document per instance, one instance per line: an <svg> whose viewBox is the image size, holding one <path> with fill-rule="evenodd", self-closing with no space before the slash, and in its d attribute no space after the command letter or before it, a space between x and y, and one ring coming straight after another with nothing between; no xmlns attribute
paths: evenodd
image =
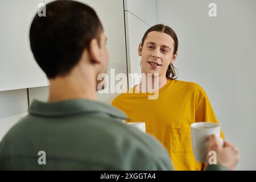
<svg viewBox="0 0 256 182"><path fill-rule="evenodd" d="M128 73L141 73L138 46L144 32L157 22L155 0L124 0ZM129 77L129 88L139 83L139 76Z"/></svg>

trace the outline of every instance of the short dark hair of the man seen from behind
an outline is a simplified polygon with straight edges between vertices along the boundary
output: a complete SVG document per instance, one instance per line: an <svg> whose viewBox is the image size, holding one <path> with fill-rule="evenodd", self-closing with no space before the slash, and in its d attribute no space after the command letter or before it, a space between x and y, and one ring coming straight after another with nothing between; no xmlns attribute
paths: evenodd
<svg viewBox="0 0 256 182"><path fill-rule="evenodd" d="M65 76L79 62L90 41L100 45L102 24L96 12L76 1L46 5L46 16L35 15L30 27L30 47L48 78Z"/></svg>

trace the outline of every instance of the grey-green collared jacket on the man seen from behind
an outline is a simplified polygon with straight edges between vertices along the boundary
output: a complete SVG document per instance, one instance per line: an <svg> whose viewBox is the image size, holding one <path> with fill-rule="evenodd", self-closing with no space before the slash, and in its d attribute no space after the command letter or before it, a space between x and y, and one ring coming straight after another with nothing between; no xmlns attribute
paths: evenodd
<svg viewBox="0 0 256 182"><path fill-rule="evenodd" d="M1 170L173 170L162 144L108 104L34 101L28 113L0 143Z"/></svg>

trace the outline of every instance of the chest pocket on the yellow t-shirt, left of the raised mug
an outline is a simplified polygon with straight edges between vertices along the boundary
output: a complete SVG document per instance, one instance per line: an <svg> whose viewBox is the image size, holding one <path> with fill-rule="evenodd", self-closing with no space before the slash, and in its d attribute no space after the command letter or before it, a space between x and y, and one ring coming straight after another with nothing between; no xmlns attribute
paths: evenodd
<svg viewBox="0 0 256 182"><path fill-rule="evenodd" d="M172 152L191 153L191 131L185 128L172 128Z"/></svg>

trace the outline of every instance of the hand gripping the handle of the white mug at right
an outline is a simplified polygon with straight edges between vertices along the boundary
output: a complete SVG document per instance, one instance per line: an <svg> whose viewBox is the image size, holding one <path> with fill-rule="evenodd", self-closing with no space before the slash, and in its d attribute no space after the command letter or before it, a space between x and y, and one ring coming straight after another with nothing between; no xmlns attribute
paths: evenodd
<svg viewBox="0 0 256 182"><path fill-rule="evenodd" d="M217 164L220 164L230 170L234 170L237 166L239 155L238 148L233 144L226 142L224 140L224 145L221 146L220 142L218 142L218 138L216 135L210 135L209 137L209 147L207 154L209 151L215 151L217 154ZM210 156L207 155L207 165L209 162Z"/></svg>

